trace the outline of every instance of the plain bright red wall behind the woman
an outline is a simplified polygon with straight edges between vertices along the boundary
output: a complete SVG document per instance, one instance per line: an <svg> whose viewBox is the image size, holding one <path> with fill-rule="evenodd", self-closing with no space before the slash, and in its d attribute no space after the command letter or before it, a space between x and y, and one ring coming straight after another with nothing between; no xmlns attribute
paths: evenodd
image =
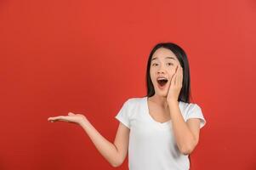
<svg viewBox="0 0 256 170"><path fill-rule="evenodd" d="M185 48L207 119L191 170L256 169L255 17L253 0L1 1L0 169L115 169L81 127L47 118L82 113L113 142L157 42Z"/></svg>

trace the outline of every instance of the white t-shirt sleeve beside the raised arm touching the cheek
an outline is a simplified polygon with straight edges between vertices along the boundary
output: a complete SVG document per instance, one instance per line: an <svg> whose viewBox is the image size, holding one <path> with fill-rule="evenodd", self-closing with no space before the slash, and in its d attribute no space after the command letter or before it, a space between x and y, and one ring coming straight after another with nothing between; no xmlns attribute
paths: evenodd
<svg viewBox="0 0 256 170"><path fill-rule="evenodd" d="M200 119L200 128L204 127L206 124L206 120L202 114L202 110L199 105L192 104L186 114L186 121L191 118L199 118Z"/></svg>

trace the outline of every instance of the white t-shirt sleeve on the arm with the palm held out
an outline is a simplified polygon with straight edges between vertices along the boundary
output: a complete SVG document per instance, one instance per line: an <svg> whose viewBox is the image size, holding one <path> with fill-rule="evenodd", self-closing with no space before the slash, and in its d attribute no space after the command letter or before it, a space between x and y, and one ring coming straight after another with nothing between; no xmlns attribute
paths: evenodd
<svg viewBox="0 0 256 170"><path fill-rule="evenodd" d="M130 128L130 121L129 121L129 99L124 102L122 105L121 110L117 113L117 120L122 122L126 127Z"/></svg>

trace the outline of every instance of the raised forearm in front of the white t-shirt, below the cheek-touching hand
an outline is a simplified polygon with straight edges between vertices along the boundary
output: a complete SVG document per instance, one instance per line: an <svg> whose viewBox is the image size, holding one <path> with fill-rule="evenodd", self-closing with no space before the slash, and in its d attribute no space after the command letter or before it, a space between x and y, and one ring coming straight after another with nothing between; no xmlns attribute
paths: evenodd
<svg viewBox="0 0 256 170"><path fill-rule="evenodd" d="M173 123L174 137L176 139L179 150L187 155L191 152L193 144L196 142L190 128L187 126L181 112L179 110L179 102L169 102L169 109Z"/></svg>

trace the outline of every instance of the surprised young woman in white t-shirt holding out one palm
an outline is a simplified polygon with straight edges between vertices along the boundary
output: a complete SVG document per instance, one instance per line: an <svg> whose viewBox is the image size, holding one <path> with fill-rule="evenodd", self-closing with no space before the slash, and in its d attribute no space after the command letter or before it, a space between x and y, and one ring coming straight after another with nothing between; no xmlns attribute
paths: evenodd
<svg viewBox="0 0 256 170"><path fill-rule="evenodd" d="M158 43L147 63L147 95L127 99L117 113L114 143L105 139L86 116L49 117L75 122L88 133L100 154L118 167L128 153L129 170L185 170L206 124L199 105L190 102L191 78L185 51L172 42Z"/></svg>

